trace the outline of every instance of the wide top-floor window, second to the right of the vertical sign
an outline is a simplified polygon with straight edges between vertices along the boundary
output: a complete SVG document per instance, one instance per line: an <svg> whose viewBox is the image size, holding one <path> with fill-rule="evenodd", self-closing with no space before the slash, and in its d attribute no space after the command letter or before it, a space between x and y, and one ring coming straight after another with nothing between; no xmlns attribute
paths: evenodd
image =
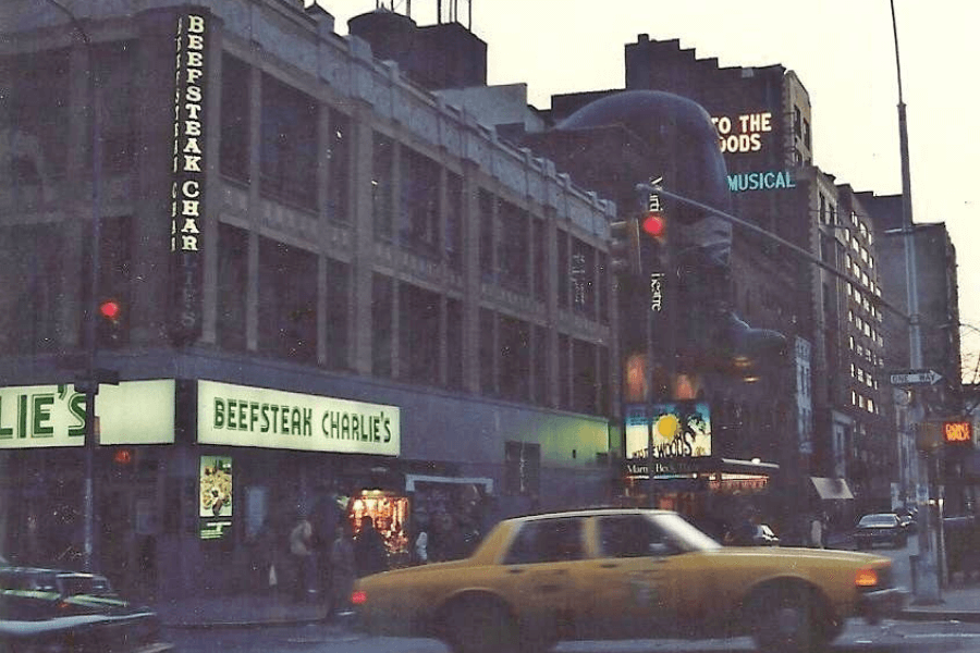
<svg viewBox="0 0 980 653"><path fill-rule="evenodd" d="M317 103L262 75L261 192L299 207L317 206Z"/></svg>

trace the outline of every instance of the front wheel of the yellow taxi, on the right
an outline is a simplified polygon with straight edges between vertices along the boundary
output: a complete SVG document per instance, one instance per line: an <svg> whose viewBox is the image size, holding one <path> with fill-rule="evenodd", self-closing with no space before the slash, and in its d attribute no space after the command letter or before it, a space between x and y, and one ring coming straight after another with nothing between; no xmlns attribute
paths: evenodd
<svg viewBox="0 0 980 653"><path fill-rule="evenodd" d="M833 637L816 593L800 587L776 587L752 602L755 636L760 651L809 653Z"/></svg>

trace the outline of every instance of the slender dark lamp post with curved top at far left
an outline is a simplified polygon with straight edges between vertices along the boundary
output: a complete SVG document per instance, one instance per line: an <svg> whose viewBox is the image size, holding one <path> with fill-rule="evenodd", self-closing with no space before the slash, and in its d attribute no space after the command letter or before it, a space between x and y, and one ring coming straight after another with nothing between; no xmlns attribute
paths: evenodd
<svg viewBox="0 0 980 653"><path fill-rule="evenodd" d="M75 30L82 35L85 44L86 76L89 111L91 112L91 224L89 234L89 297L85 304L85 489L84 503L84 554L83 566L91 571L95 566L95 530L96 530L96 488L95 488L95 452L96 452L96 395L99 393L99 384L96 379L96 354L98 341L96 338L96 301L99 292L99 242L101 241L101 169L102 169L102 135L99 116L99 89L95 75L95 49L91 39L82 26L82 23L68 8L58 0L48 0L50 4L64 13Z"/></svg>

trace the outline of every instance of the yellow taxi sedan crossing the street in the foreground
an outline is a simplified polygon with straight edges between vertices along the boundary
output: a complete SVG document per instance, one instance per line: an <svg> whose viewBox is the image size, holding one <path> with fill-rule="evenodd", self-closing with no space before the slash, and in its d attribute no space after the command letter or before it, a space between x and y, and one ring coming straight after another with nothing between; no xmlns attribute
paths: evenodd
<svg viewBox="0 0 980 653"><path fill-rule="evenodd" d="M848 617L894 614L904 596L884 556L722 546L676 513L617 508L504 520L470 557L359 579L352 602L367 632L456 653L740 634L785 652L831 641Z"/></svg>

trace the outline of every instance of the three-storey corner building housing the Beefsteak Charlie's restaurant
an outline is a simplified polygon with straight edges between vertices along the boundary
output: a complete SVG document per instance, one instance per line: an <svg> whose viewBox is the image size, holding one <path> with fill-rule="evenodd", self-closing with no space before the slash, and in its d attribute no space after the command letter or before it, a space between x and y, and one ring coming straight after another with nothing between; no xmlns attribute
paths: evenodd
<svg viewBox="0 0 980 653"><path fill-rule="evenodd" d="M264 588L331 502L397 564L420 514L607 500L614 205L321 9L119 7L73 8L90 47L0 10L0 550L78 566L108 298L95 567L123 591Z"/></svg>

